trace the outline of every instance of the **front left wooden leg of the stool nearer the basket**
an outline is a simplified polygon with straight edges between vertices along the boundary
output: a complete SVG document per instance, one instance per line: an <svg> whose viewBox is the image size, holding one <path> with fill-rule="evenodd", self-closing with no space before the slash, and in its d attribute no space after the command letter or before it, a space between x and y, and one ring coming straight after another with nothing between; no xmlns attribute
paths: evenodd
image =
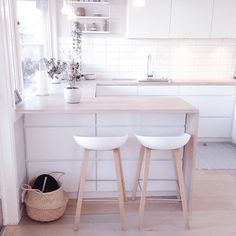
<svg viewBox="0 0 236 236"><path fill-rule="evenodd" d="M76 206L76 213L75 213L74 230L79 229L85 178L86 178L86 173L87 173L87 168L88 168L88 160L89 160L89 151L87 149L85 149L83 163L82 163L82 167L81 167L81 174L80 174L80 183L79 183L79 192L78 192L78 199L77 199L77 206Z"/></svg>

